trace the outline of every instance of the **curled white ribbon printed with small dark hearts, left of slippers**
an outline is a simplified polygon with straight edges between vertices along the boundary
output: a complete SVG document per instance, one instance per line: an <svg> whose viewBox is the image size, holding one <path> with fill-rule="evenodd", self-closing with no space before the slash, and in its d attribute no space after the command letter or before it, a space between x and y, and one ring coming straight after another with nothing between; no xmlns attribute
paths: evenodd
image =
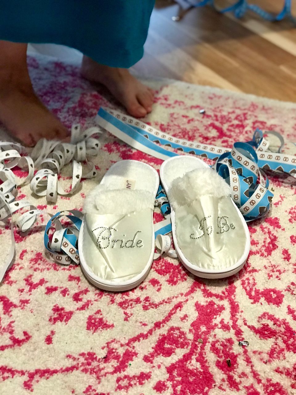
<svg viewBox="0 0 296 395"><path fill-rule="evenodd" d="M31 152L31 156L22 156L25 148L18 143L0 142L0 221L12 217L20 209L28 208L16 221L22 232L27 231L36 221L37 216L46 212L36 209L29 201L16 201L17 186L30 182L30 189L37 196L46 196L47 202L55 203L58 195L69 195L77 192L82 178L96 177L97 171L91 156L96 156L101 148L99 141L93 136L101 134L97 127L81 132L79 124L71 129L71 143L48 141L41 139ZM72 162L72 183L69 191L62 187L58 176L61 169ZM86 162L83 169L80 162ZM28 171L24 179L19 179L12 169L19 167ZM34 175L36 168L39 170ZM49 214L49 213L46 213ZM52 216L52 214L49 214ZM11 218L11 246L4 262L0 265L0 282L10 267L15 252L13 222Z"/></svg>

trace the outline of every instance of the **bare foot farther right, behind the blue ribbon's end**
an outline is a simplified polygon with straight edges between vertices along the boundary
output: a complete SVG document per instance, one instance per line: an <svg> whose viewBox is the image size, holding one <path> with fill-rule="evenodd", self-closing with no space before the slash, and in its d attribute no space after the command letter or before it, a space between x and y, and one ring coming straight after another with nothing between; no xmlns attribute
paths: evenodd
<svg viewBox="0 0 296 395"><path fill-rule="evenodd" d="M133 117L144 117L152 111L153 90L133 77L127 69L105 66L83 56L81 74L89 81L105 85Z"/></svg>

